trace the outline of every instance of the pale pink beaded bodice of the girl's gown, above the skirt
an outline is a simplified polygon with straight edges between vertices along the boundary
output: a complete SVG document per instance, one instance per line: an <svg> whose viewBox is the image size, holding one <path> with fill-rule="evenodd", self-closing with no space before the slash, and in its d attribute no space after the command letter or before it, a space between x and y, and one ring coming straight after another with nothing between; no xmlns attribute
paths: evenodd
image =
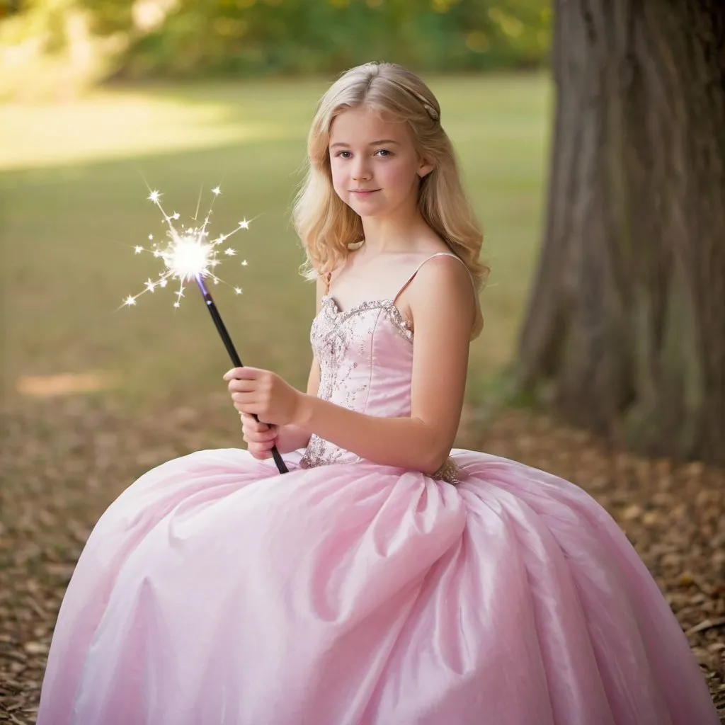
<svg viewBox="0 0 725 725"><path fill-rule="evenodd" d="M320 398L357 413L410 415L413 331L392 299L342 312L333 297L323 297L310 341L320 363ZM357 460L354 453L312 436L302 465Z"/></svg>

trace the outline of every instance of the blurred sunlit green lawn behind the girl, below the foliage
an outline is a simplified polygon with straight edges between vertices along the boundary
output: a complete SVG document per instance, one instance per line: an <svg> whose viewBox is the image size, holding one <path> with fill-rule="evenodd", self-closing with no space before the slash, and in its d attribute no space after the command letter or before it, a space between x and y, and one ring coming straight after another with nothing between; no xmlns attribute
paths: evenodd
<svg viewBox="0 0 725 725"><path fill-rule="evenodd" d="M473 345L468 396L478 401L510 359L536 261L550 117L542 75L431 78L443 123L486 229L492 266L486 327ZM212 231L256 218L220 275L244 287L215 298L242 359L304 386L314 290L289 210L322 81L107 89L60 105L0 107L5 392L21 376L103 370L136 410L223 389L228 358L190 289L140 291L157 263L133 254L161 231L144 178L167 210L192 213L220 183ZM12 140L8 143L9 140ZM208 195L207 195L208 198ZM203 207L202 207L203 208ZM192 294L193 293L193 294Z"/></svg>

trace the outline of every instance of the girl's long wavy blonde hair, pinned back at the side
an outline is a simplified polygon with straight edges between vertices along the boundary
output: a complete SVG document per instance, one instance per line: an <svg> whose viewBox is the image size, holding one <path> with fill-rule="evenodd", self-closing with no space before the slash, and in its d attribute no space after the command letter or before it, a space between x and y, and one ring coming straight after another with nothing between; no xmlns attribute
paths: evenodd
<svg viewBox="0 0 725 725"><path fill-rule="evenodd" d="M439 103L417 75L393 63L365 63L348 70L320 100L307 138L307 175L292 212L307 253L305 276L335 270L347 257L348 245L363 240L362 220L333 188L328 150L334 119L363 104L410 125L418 155L434 167L421 180L418 208L465 262L480 289L488 273L479 260L483 233L463 191L453 146L440 123Z"/></svg>

